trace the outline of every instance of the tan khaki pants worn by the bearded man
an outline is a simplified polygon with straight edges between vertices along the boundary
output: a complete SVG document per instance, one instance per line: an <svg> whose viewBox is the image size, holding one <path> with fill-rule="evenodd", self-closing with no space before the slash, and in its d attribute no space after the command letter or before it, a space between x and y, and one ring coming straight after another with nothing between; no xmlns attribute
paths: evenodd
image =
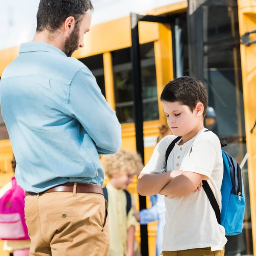
<svg viewBox="0 0 256 256"><path fill-rule="evenodd" d="M107 217L106 201L100 194L26 196L30 256L108 256Z"/></svg>

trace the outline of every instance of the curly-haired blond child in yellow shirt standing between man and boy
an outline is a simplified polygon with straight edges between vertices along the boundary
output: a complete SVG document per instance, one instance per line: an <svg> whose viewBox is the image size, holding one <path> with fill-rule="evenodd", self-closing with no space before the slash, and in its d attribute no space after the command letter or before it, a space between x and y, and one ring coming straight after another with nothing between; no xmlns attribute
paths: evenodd
<svg viewBox="0 0 256 256"><path fill-rule="evenodd" d="M103 166L106 175L110 178L104 188L105 194L108 195L111 237L109 255L124 255L125 251L125 255L139 255L135 242L135 229L139 217L134 196L127 191L127 188L133 182L134 175L139 175L143 169L142 159L137 153L120 150L116 154L105 155ZM127 209L129 201L131 208Z"/></svg>

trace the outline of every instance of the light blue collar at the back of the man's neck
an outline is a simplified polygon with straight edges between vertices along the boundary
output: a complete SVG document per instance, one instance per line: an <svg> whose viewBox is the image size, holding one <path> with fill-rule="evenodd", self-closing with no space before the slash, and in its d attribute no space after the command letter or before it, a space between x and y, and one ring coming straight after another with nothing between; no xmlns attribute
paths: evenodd
<svg viewBox="0 0 256 256"><path fill-rule="evenodd" d="M28 42L20 44L19 53L23 52L52 52L52 53L60 53L67 57L67 55L61 51L61 49L44 42Z"/></svg>

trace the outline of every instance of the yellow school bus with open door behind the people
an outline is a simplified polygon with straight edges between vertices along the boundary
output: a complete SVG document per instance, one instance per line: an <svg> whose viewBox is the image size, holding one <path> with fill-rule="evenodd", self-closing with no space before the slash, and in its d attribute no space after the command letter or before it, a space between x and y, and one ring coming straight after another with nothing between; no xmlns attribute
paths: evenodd
<svg viewBox="0 0 256 256"><path fill-rule="evenodd" d="M139 45L133 37L136 26ZM225 150L243 166L247 208L243 233L228 237L225 250L230 256L256 256L255 29L256 0L181 0L143 15L132 14L94 25L86 35L85 47L73 54L89 67L116 111L122 124L122 149L141 151L143 145L145 163L157 144L159 126L166 125L159 101L165 84L183 75L204 81L209 107L215 112L212 131L227 140ZM0 51L0 76L17 54L18 47ZM135 69L140 73L134 73ZM140 79L132 74L139 74ZM139 98L134 93L138 87ZM143 112L139 113L141 108ZM138 119L140 115L143 122ZM141 131L143 139L136 137ZM10 180L11 160L9 139L0 140L0 186ZM139 210L136 179L129 191ZM151 205L148 197L146 205ZM145 230L141 236L140 225L137 226L137 241L148 241L149 256L155 255L156 230L157 222L148 224L145 237ZM0 256L7 256L1 248L0 242ZM143 250L144 256L147 253Z"/></svg>

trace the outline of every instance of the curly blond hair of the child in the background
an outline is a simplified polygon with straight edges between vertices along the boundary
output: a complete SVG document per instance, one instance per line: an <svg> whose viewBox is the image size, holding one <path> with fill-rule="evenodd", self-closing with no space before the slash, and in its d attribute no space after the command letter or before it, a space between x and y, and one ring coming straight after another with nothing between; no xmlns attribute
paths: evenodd
<svg viewBox="0 0 256 256"><path fill-rule="evenodd" d="M139 154L120 150L116 154L105 155L103 167L105 174L112 177L113 174L119 173L139 175L144 166Z"/></svg>

